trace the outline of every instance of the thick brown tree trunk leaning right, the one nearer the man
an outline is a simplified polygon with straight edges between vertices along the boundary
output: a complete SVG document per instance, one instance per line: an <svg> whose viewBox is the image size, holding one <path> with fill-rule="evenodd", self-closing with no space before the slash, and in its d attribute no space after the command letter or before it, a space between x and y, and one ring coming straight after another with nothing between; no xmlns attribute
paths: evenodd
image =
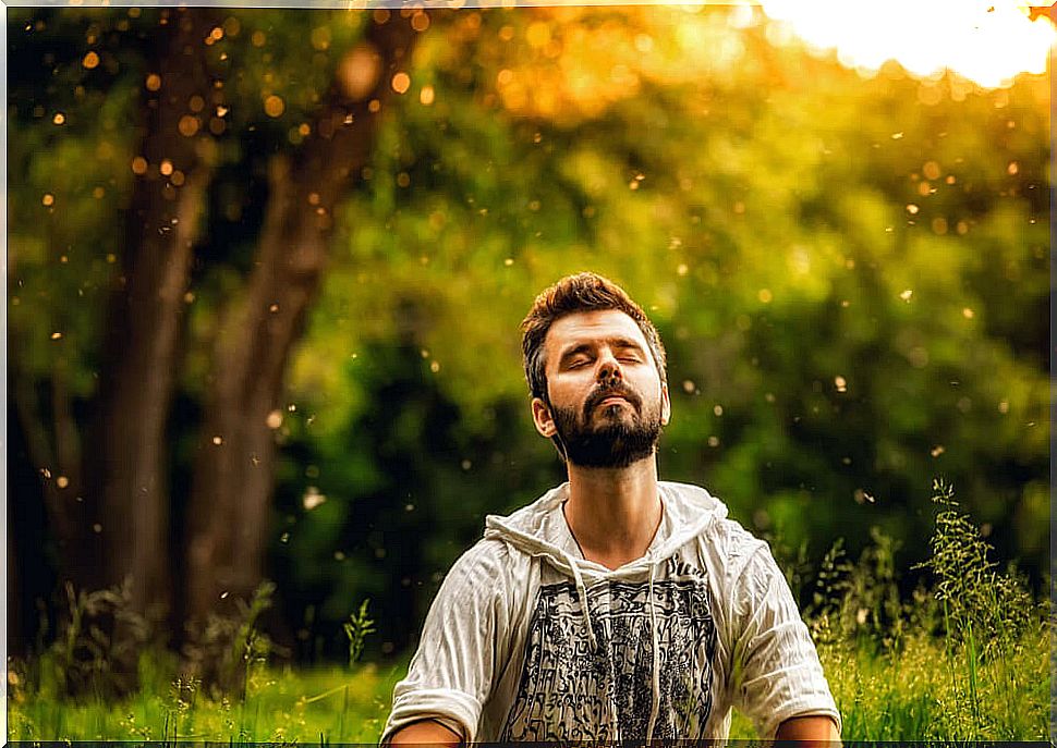
<svg viewBox="0 0 1057 748"><path fill-rule="evenodd" d="M394 73L410 65L411 20L374 12L297 160L270 163L257 261L245 297L221 323L208 379L189 510L193 626L220 609L221 594L248 598L262 580L287 364L319 286L333 209L367 162Z"/></svg>

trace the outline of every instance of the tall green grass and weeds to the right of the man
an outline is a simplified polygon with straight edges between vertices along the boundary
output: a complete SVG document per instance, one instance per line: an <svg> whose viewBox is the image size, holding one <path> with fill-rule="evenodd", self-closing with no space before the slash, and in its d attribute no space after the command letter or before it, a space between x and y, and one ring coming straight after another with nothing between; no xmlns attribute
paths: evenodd
<svg viewBox="0 0 1057 748"><path fill-rule="evenodd" d="M807 614L845 719L846 739L1031 739L1048 731L1049 622L969 516L940 505L919 565L932 584L900 600L891 540L874 535L858 564L826 555Z"/></svg>

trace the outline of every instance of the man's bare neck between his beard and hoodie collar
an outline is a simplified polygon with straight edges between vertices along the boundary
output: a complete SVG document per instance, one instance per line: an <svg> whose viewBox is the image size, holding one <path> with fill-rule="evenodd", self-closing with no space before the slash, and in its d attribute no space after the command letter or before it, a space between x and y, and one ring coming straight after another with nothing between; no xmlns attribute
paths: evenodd
<svg viewBox="0 0 1057 748"><path fill-rule="evenodd" d="M568 468L566 522L584 557L616 568L645 555L663 514L656 457L622 468Z"/></svg>

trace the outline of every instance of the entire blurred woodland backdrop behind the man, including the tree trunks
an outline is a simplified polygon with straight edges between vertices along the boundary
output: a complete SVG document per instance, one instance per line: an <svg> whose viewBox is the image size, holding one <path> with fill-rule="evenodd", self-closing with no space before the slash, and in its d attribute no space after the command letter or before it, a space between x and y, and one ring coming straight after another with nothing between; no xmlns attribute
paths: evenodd
<svg viewBox="0 0 1057 748"><path fill-rule="evenodd" d="M737 21L737 22L736 22ZM663 477L776 554L1048 557L1049 81L864 75L722 7L8 9L9 651L127 580L178 648L397 657L562 479L519 322L584 269L669 352ZM797 590L798 592L801 590Z"/></svg>

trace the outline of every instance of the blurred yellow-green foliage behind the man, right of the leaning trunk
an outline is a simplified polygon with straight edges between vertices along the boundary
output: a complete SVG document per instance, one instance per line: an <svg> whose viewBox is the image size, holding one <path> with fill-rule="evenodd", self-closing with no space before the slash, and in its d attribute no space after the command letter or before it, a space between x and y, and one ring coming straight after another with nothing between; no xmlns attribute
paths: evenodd
<svg viewBox="0 0 1057 748"><path fill-rule="evenodd" d="M972 510L1001 550L1041 568L1046 547L1032 528L1045 511L1030 486L1045 480L1045 434L1028 425L1044 420L1046 379L1043 358L1029 352L1043 351L1045 331L992 323L1048 298L1037 192L1045 173L1007 169L1042 163L1036 82L925 105L924 84L912 78L863 82L748 29L739 44L760 66L696 79L654 70L634 96L581 102L590 114L551 118L533 109L545 109L534 95L524 109L505 108L501 91L483 83L503 70L552 74L521 40L533 21L556 38L576 24L604 26L613 49L621 29L637 24L656 38L668 38L669 22L730 36L719 15L654 11L567 25L484 13L473 29L463 14L423 39L430 64L413 79L435 102L411 99L389 121L370 179L348 204L295 363L295 393L318 414L316 439L336 441L349 432L342 424L359 424L356 441L372 439L359 414L391 395L364 367L398 340L433 367L426 387L457 408L452 428L463 443L469 436L485 450L495 444L489 414L501 408L515 419L503 452L546 461L525 415L518 323L546 284L593 268L644 303L669 348L666 477L704 483L748 526L793 548L806 543L817 563L838 536L862 552L872 526L925 552L912 530L927 502L914 486L940 468L971 488ZM506 26L513 38L495 50L434 46ZM811 73L791 73L802 66ZM585 76L592 70L584 64ZM560 76L554 88L559 99L572 96ZM987 138L996 147L971 156ZM980 274L981 263L989 271ZM1012 285L995 293L988 273ZM347 342L341 355L328 354L335 341ZM405 434L415 432L411 469L435 476L434 465L453 462L444 440L422 428ZM381 463L350 445L336 455L350 452L357 456L347 461L374 483ZM320 469L336 481L341 470ZM460 502L439 499L444 483L426 485L430 503L444 507L432 537L467 543L479 522L461 529ZM545 488L512 477L503 487L526 499ZM392 504L405 495L389 494ZM508 502L482 504L498 511ZM1034 525L1020 518L1029 515ZM377 596L378 587L361 583L339 597ZM390 628L385 606L379 615Z"/></svg>

